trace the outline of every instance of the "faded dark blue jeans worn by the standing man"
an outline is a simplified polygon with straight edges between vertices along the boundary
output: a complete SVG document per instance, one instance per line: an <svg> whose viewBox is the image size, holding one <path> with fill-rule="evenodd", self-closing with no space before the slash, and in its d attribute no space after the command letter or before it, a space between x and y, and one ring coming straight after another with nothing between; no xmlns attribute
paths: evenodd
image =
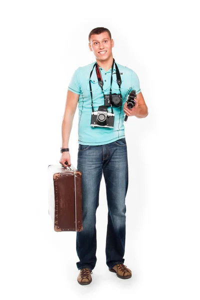
<svg viewBox="0 0 200 300"><path fill-rule="evenodd" d="M106 264L109 268L124 262L125 196L128 187L128 163L125 138L104 145L78 145L77 169L82 172L82 225L76 232L77 268L96 264L96 208L102 173L105 179L108 219Z"/></svg>

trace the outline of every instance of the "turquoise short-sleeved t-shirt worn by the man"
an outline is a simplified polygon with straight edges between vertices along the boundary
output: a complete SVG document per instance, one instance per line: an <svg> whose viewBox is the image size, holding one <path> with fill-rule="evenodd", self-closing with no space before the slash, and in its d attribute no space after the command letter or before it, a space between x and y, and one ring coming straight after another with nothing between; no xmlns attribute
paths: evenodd
<svg viewBox="0 0 200 300"><path fill-rule="evenodd" d="M139 93L139 79L137 74L130 68L117 64L121 76L121 95L122 106L113 106L114 112L114 127L92 127L91 124L91 96L89 88L89 75L95 61L85 66L78 67L70 80L68 89L76 94L79 94L78 99L78 143L83 145L102 145L113 142L119 138L125 137L124 132L124 111L123 105L127 100L127 95L132 89L135 89L136 94ZM104 94L109 94L111 68L105 72L100 67L100 72L103 80ZM98 106L104 105L104 97L102 90L98 84L95 67L90 78L92 89L92 100L94 111L98 110ZM112 93L119 93L119 87L116 82L115 65L112 71ZM108 112L111 112L111 107L107 107ZM127 120L128 121L128 120Z"/></svg>

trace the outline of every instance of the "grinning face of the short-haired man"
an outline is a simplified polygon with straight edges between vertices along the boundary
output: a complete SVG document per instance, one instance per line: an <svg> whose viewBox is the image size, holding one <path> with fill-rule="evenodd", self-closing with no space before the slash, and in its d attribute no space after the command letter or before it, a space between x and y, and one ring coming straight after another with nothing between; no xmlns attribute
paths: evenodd
<svg viewBox="0 0 200 300"><path fill-rule="evenodd" d="M113 39L105 31L100 34L92 34L89 42L89 49L93 51L94 56L99 60L106 60L112 54L114 46Z"/></svg>

